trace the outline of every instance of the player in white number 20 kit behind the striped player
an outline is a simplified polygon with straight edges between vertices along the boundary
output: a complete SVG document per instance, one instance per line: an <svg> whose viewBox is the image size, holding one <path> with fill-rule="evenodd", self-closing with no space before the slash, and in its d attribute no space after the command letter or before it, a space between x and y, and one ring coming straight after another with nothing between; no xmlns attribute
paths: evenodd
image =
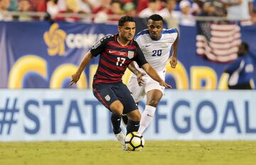
<svg viewBox="0 0 256 165"><path fill-rule="evenodd" d="M146 61L156 69L161 79L165 79L165 66L168 59L170 59L172 68L175 68L177 64L178 30L176 28L164 29L163 18L158 14L153 14L149 17L147 29L139 32L134 39L144 53ZM138 130L142 134L153 120L156 106L163 96L164 87L151 79L136 62L130 64L129 69L132 75L128 81L128 89L134 96L135 102L139 103L146 95L146 106ZM123 116L122 120L126 124L127 116Z"/></svg>

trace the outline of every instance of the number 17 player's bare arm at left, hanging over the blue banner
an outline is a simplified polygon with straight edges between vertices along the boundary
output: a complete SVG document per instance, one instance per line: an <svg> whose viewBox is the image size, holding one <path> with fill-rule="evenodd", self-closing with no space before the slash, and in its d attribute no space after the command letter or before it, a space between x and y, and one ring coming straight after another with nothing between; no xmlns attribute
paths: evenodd
<svg viewBox="0 0 256 165"><path fill-rule="evenodd" d="M92 59L92 53L89 51L85 54L85 56L82 58L82 62L80 63L78 70L71 76L70 80L70 86L73 84L76 84L78 80L80 79L80 76L82 74L82 71L85 69L87 64L89 64L90 60Z"/></svg>

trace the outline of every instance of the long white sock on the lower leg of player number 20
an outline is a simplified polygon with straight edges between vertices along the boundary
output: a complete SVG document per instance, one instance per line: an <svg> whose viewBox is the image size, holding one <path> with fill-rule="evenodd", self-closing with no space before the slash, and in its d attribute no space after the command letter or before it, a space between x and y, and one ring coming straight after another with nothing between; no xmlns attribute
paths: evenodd
<svg viewBox="0 0 256 165"><path fill-rule="evenodd" d="M153 120L154 117L154 112L156 111L156 108L154 106L145 106L145 109L142 113L142 119L140 120L139 123L139 130L138 132L142 134L147 127L149 127L149 124Z"/></svg>

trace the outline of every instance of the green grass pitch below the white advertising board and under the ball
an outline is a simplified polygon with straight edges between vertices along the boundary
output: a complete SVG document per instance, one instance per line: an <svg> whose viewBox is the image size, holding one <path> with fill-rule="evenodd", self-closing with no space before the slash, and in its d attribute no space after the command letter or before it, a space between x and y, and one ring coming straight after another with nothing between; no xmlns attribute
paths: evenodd
<svg viewBox="0 0 256 165"><path fill-rule="evenodd" d="M0 142L0 164L255 165L256 141L146 141L142 152L117 141Z"/></svg>

